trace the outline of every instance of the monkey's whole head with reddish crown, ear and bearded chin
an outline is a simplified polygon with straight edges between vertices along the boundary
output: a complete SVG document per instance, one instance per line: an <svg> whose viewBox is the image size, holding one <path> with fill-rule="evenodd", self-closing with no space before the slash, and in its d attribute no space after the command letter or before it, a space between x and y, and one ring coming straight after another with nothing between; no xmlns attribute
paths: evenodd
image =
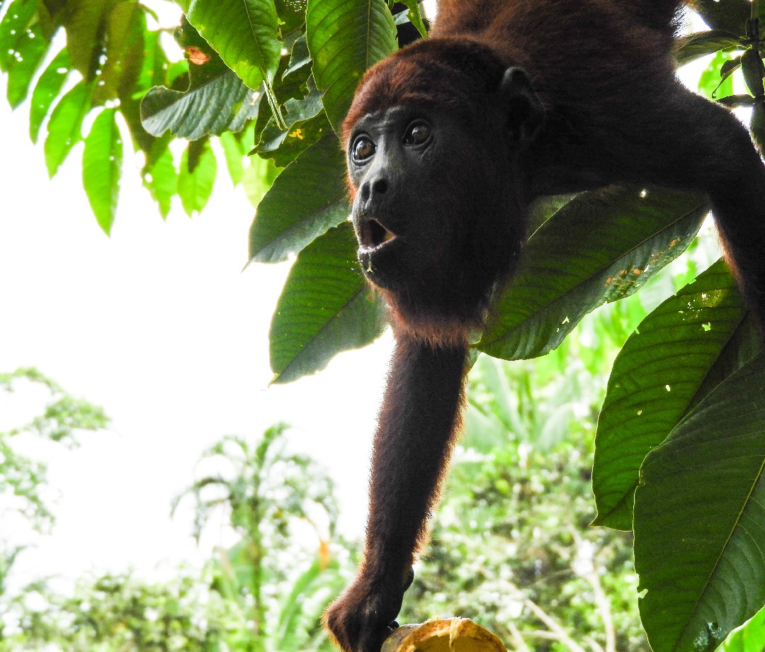
<svg viewBox="0 0 765 652"><path fill-rule="evenodd" d="M366 73L343 125L366 278L397 328L464 341L526 240L519 155L542 109L483 44L428 39Z"/></svg>

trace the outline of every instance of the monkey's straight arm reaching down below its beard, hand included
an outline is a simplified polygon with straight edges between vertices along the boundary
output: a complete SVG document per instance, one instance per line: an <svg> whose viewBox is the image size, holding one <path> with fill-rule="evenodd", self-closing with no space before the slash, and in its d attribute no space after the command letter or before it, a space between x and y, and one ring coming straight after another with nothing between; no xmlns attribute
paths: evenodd
<svg viewBox="0 0 765 652"><path fill-rule="evenodd" d="M457 430L466 352L396 339L374 439L363 563L325 616L346 652L379 652L412 582Z"/></svg>

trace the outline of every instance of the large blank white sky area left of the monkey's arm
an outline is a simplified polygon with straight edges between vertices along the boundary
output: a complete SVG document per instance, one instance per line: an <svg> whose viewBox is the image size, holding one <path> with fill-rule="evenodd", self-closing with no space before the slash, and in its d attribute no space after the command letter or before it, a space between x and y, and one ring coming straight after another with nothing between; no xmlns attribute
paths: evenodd
<svg viewBox="0 0 765 652"><path fill-rule="evenodd" d="M278 420L296 426L295 450L330 468L341 529L360 535L391 338L267 389L269 321L288 266L241 271L254 210L224 166L201 216L190 220L177 204L163 222L125 165L107 238L82 189L82 145L48 181L28 108L11 114L4 80L0 93L0 370L38 367L112 418L79 450L54 450L57 526L21 556L18 581L199 559L188 514L169 520L171 498L221 435L258 435Z"/></svg>

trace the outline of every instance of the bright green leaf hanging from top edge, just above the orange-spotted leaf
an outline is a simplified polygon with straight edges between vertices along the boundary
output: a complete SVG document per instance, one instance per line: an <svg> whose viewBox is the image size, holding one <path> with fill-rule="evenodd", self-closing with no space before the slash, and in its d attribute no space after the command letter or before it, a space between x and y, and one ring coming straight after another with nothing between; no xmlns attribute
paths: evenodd
<svg viewBox="0 0 765 652"><path fill-rule="evenodd" d="M192 0L187 18L249 88L273 80L282 57L274 0Z"/></svg>

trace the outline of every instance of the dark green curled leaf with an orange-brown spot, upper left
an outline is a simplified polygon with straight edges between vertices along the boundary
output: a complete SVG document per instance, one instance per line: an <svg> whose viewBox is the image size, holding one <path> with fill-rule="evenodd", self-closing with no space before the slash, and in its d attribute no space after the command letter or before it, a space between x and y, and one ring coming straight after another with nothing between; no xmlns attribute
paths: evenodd
<svg viewBox="0 0 765 652"><path fill-rule="evenodd" d="M141 103L144 129L155 136L169 130L189 140L241 131L258 115L258 94L226 67L187 21L176 37L181 47L195 53L189 64L189 87L182 92L165 86L149 90Z"/></svg>

